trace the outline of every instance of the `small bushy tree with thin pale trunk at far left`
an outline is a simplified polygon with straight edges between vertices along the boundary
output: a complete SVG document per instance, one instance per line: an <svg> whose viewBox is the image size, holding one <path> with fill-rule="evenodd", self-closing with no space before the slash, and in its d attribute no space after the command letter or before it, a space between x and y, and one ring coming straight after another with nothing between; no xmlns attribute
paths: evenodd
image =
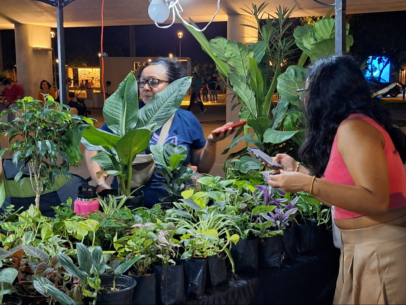
<svg viewBox="0 0 406 305"><path fill-rule="evenodd" d="M55 102L51 96L41 101L25 97L17 101L17 106L1 113L15 114L12 122L0 122L0 132L9 142L9 148L0 151L0 157L10 150L15 166L24 161L14 180L21 179L20 185L29 179L35 192L35 206L39 208L41 193L54 185L62 174L71 179L69 166L78 166L82 161L80 139L83 130L93 121L89 118L71 115L69 107ZM58 159L60 157L60 159ZM21 163L20 163L21 164ZM29 177L23 177L28 168Z"/></svg>

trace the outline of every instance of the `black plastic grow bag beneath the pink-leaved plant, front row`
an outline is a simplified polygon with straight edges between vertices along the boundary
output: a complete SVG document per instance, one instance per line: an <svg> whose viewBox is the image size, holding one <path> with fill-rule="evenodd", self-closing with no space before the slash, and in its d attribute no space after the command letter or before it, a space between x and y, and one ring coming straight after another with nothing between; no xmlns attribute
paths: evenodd
<svg viewBox="0 0 406 305"><path fill-rule="evenodd" d="M183 265L177 262L175 266L154 265L157 285L157 298L160 304L179 304L185 301L185 286Z"/></svg>

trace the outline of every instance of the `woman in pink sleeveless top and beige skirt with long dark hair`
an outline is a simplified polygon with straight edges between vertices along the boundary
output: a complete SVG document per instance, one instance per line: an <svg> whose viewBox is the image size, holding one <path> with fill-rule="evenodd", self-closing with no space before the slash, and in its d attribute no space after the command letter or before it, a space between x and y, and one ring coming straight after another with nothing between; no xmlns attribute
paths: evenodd
<svg viewBox="0 0 406 305"><path fill-rule="evenodd" d="M303 164L276 155L284 170L269 185L309 192L335 206L342 248L334 304L406 304L405 135L347 56L309 67Z"/></svg>

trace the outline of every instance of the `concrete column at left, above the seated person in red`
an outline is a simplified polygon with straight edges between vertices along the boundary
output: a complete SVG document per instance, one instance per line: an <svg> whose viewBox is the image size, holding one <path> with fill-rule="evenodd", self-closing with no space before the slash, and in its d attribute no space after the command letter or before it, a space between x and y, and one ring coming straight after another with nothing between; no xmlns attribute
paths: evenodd
<svg viewBox="0 0 406 305"><path fill-rule="evenodd" d="M37 98L39 83L52 83L51 28L34 24L15 24L15 57L18 84L24 96Z"/></svg>

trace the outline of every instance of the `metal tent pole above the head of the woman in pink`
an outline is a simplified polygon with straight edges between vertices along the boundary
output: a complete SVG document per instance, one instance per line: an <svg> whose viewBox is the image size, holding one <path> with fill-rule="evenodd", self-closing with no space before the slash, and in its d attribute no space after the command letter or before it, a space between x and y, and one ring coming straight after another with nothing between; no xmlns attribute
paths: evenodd
<svg viewBox="0 0 406 305"><path fill-rule="evenodd" d="M335 0L335 54L347 53L347 0Z"/></svg>

